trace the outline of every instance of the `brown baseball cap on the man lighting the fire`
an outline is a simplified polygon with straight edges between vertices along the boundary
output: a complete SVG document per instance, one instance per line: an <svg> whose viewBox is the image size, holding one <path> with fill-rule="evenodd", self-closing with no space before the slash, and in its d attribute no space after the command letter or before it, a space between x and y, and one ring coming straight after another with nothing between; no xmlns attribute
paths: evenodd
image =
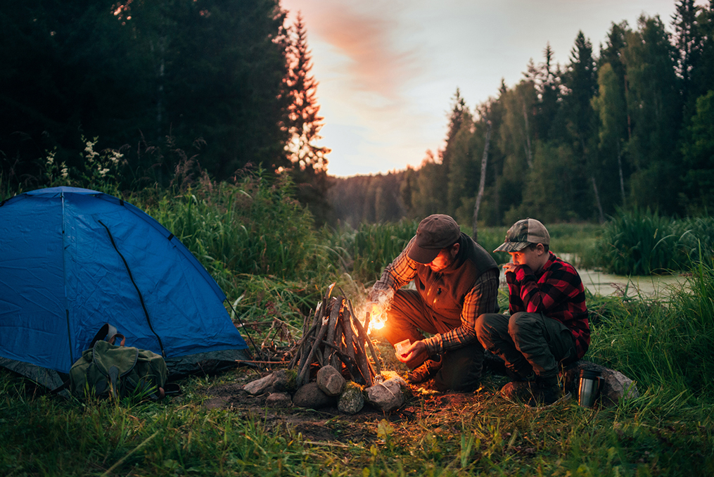
<svg viewBox="0 0 714 477"><path fill-rule="evenodd" d="M442 248L452 246L460 237L461 229L450 216L428 216L419 223L407 256L416 263L431 263Z"/></svg>

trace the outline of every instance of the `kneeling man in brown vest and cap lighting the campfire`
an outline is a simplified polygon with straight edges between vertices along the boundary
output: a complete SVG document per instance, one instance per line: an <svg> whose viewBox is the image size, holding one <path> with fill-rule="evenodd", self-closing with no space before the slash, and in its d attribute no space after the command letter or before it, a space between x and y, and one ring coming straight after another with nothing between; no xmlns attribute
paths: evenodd
<svg viewBox="0 0 714 477"><path fill-rule="evenodd" d="M414 280L416 290L402 286ZM483 347L476 318L498 311L498 266L483 247L461 232L450 216L421 221L416 236L388 265L370 291L371 301L386 304L381 330L393 345L411 346L400 356L411 372L408 381L434 377L438 391L478 387ZM431 333L424 338L422 331Z"/></svg>

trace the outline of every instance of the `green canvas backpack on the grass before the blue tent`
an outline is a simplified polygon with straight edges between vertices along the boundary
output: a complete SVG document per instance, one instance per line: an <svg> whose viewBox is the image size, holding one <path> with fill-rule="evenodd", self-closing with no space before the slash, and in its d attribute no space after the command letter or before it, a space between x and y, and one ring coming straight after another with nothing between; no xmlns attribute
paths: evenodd
<svg viewBox="0 0 714 477"><path fill-rule="evenodd" d="M114 345L116 338L121 338L119 346ZM151 351L124 346L125 341L124 336L116 333L109 341L95 339L92 342L69 370L72 396L164 397L169 373L164 358Z"/></svg>

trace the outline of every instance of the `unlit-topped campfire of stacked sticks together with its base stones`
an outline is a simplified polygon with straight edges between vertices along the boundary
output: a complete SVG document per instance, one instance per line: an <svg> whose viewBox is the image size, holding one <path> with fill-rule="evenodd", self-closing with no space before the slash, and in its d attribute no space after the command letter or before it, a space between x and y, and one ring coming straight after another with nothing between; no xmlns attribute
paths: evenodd
<svg viewBox="0 0 714 477"><path fill-rule="evenodd" d="M361 321L348 298L332 296L333 288L335 283L304 318L300 341L285 355L291 357L287 369L251 381L243 391L266 396L266 406L275 407L336 405L350 414L359 412L365 403L383 412L399 408L407 384L398 373L382 371L368 336L370 321L380 318L371 320L368 307Z"/></svg>

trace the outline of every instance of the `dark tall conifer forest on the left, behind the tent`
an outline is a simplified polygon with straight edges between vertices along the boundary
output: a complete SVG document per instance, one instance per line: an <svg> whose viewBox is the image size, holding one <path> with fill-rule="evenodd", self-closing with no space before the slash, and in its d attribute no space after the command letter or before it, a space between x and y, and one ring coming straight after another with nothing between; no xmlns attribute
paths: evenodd
<svg viewBox="0 0 714 477"><path fill-rule="evenodd" d="M260 167L325 216L317 81L287 15L278 0L4 1L0 183L46 186L53 166L71 183L91 141L121 158L120 189Z"/></svg>

